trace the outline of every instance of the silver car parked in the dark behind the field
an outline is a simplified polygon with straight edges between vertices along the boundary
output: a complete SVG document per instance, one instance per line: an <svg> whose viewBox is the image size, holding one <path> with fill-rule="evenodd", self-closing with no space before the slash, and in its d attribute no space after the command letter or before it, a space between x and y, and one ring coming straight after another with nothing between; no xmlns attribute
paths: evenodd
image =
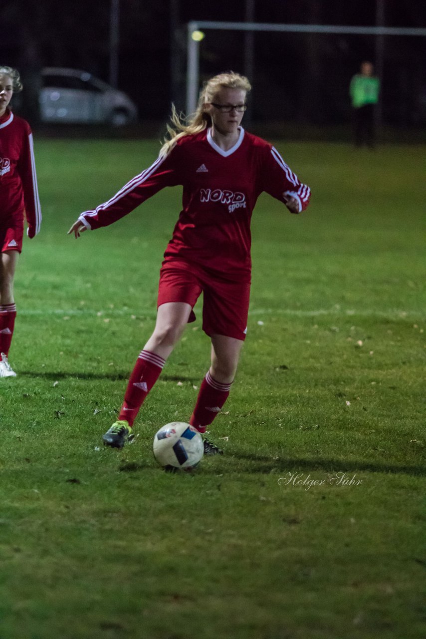
<svg viewBox="0 0 426 639"><path fill-rule="evenodd" d="M122 127L137 119L132 100L91 73L47 67L42 70L40 118L45 123L107 123Z"/></svg>

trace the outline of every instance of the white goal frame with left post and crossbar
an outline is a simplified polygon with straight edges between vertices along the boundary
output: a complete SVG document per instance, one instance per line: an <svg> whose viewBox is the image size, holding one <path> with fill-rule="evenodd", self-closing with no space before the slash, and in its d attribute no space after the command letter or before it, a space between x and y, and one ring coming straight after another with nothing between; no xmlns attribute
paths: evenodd
<svg viewBox="0 0 426 639"><path fill-rule="evenodd" d="M281 31L287 33L333 33L337 35L372 36L426 36L426 29L417 27L358 27L331 24L270 24L268 22L216 22L214 20L192 20L188 22L186 35L186 114L194 113L200 89L199 46L193 37L201 30L217 29L225 31ZM380 52L380 49L378 49ZM380 61L378 61L380 62ZM380 64L378 65L380 68Z"/></svg>

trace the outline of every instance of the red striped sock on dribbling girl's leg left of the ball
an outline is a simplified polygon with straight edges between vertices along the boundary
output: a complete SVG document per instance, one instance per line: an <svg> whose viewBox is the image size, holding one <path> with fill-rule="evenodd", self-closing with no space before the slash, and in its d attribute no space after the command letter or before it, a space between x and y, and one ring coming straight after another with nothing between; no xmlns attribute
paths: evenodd
<svg viewBox="0 0 426 639"><path fill-rule="evenodd" d="M158 380L164 364L165 360L160 355L150 351L141 351L130 375L130 380L128 380L125 401L121 406L118 419L125 419L129 426L133 426L139 408Z"/></svg>

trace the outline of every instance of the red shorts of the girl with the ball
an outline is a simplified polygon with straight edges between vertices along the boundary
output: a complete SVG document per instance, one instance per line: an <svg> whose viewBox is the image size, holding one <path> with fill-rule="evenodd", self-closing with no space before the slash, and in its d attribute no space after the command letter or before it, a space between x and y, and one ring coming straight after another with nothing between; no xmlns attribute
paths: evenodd
<svg viewBox="0 0 426 639"><path fill-rule="evenodd" d="M166 302L186 302L194 308L201 292L204 333L245 340L250 282L229 281L181 259L163 262L157 307ZM194 319L192 311L188 321Z"/></svg>

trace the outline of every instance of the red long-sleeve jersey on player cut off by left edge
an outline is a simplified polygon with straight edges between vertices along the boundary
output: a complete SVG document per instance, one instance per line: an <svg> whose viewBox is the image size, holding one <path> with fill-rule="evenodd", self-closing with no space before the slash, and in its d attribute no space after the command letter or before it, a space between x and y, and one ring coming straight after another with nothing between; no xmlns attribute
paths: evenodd
<svg viewBox="0 0 426 639"><path fill-rule="evenodd" d="M0 118L0 225L20 224L24 214L33 238L42 222L33 134L26 120L6 109Z"/></svg>

